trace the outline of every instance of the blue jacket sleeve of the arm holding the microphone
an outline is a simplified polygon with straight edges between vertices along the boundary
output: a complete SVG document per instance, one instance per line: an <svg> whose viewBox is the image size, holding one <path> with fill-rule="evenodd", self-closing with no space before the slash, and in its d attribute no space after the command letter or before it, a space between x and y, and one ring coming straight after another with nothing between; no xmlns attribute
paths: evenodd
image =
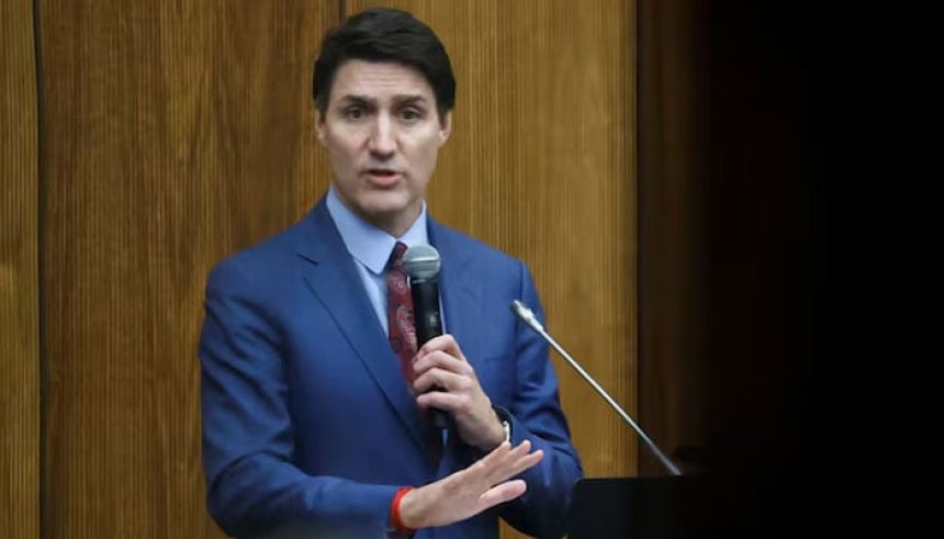
<svg viewBox="0 0 944 539"><path fill-rule="evenodd" d="M520 265L519 297L543 322L533 280L524 263ZM539 465L522 474L528 490L524 496L508 504L503 516L514 527L535 537L561 537L571 491L583 470L560 407L558 381L548 358L548 346L521 322L517 323L515 332L515 397L509 409L499 408L498 412L512 424L513 445L530 440L535 449L544 451L544 458Z"/></svg>

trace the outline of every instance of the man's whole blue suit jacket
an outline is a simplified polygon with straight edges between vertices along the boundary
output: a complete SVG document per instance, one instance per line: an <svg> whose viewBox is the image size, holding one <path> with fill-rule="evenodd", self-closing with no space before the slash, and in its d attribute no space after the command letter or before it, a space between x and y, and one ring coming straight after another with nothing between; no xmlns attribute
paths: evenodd
<svg viewBox="0 0 944 539"><path fill-rule="evenodd" d="M515 445L544 459L521 498L417 537L496 538L497 516L559 537L582 470L546 345L508 305L540 306L524 263L429 221L448 330ZM200 341L210 512L228 534L381 538L404 485L482 454L452 437L438 469L423 423L324 199L301 222L217 265Z"/></svg>

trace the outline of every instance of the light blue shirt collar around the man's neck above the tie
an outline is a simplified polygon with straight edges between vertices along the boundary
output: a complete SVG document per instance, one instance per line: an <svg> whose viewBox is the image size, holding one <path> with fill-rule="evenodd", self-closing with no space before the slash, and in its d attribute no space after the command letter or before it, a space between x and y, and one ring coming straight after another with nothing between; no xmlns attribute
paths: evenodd
<svg viewBox="0 0 944 539"><path fill-rule="evenodd" d="M403 242L407 247L429 244L426 229L426 201L423 202L419 216L398 238L366 222L348 209L338 198L334 186L328 189L326 203L328 214L334 220L348 252L377 276L383 274L390 252L397 242Z"/></svg>

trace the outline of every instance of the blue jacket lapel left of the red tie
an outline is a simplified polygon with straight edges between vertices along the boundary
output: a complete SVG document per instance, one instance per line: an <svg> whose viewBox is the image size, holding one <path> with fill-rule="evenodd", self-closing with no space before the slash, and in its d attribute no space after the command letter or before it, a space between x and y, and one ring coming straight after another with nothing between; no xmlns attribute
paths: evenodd
<svg viewBox="0 0 944 539"><path fill-rule="evenodd" d="M413 395L404 383L400 360L368 299L355 261L327 211L325 200L307 220L299 249L307 288L330 313L344 338L373 377L386 400L420 450L425 450L423 425Z"/></svg>

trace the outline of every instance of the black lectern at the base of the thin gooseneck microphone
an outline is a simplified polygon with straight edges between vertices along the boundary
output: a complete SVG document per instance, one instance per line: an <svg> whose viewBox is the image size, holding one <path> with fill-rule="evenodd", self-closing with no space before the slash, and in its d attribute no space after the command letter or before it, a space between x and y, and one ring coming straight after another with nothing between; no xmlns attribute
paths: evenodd
<svg viewBox="0 0 944 539"><path fill-rule="evenodd" d="M705 478L585 479L574 487L567 539L710 536Z"/></svg>

